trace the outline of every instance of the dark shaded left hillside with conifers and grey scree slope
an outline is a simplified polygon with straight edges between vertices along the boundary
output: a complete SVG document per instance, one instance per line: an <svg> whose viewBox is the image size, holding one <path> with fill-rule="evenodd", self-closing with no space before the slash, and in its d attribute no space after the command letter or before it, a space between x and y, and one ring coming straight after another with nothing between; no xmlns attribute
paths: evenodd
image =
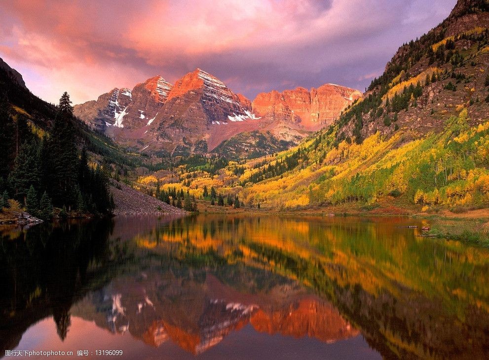
<svg viewBox="0 0 489 360"><path fill-rule="evenodd" d="M13 209L43 220L128 211L121 207L135 212L117 189L111 192L109 177L141 160L75 118L68 94L58 106L46 103L1 59L0 88L0 221L12 220ZM130 197L137 213L182 213L152 196Z"/></svg>

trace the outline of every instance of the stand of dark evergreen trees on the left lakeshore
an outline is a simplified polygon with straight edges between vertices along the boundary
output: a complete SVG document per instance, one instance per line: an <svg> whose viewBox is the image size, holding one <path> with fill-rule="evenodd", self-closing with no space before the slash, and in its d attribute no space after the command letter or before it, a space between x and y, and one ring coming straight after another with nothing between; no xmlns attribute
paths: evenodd
<svg viewBox="0 0 489 360"><path fill-rule="evenodd" d="M32 215L49 219L53 207L107 214L114 208L109 178L99 165L90 166L87 152L78 149L70 96L65 92L54 119L43 130L26 115L14 113L0 95L1 205L17 200Z"/></svg>

